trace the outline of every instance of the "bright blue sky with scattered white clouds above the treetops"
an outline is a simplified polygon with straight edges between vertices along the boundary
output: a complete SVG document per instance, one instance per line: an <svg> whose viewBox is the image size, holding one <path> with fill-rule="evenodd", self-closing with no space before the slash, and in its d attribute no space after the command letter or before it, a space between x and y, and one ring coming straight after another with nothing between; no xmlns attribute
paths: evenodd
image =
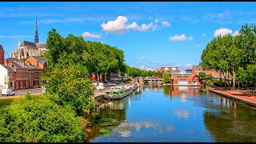
<svg viewBox="0 0 256 144"><path fill-rule="evenodd" d="M39 42L56 29L123 50L126 64L144 70L198 65L216 35L238 34L256 22L256 2L0 2L0 44L10 54L18 40ZM8 55L6 54L6 58Z"/></svg>

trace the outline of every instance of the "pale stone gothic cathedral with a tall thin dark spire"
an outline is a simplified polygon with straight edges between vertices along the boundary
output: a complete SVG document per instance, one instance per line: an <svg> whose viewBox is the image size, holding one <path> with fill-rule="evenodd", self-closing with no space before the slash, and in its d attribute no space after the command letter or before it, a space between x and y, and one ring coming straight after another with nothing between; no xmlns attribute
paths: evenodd
<svg viewBox="0 0 256 144"><path fill-rule="evenodd" d="M34 42L23 41L18 42L18 50L11 53L11 58L28 58L29 56L42 56L46 52L46 42L38 42L38 20L35 19Z"/></svg>

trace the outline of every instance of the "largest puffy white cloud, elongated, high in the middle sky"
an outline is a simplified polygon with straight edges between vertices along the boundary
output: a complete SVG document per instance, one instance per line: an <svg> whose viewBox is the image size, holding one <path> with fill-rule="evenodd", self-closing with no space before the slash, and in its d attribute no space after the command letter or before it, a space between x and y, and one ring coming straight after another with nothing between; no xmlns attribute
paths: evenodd
<svg viewBox="0 0 256 144"><path fill-rule="evenodd" d="M155 20L157 22L158 20ZM138 31L146 31L146 30L156 30L157 24L154 22L150 22L149 24L142 24L138 26L137 22L132 22L131 24L127 23L128 18L125 16L118 16L118 18L114 21L102 22L102 30L106 32L111 32L115 34L122 34L126 30L138 30Z"/></svg>

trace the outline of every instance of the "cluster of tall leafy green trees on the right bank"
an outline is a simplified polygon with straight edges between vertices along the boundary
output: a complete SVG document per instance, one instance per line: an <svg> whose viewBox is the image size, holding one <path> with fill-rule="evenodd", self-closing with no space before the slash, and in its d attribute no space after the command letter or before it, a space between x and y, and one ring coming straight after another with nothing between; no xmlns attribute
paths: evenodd
<svg viewBox="0 0 256 144"><path fill-rule="evenodd" d="M225 79L233 76L233 83L237 78L247 86L249 82L255 83L255 53L256 26L246 24L236 36L228 34L213 38L202 50L202 66L217 70Z"/></svg>

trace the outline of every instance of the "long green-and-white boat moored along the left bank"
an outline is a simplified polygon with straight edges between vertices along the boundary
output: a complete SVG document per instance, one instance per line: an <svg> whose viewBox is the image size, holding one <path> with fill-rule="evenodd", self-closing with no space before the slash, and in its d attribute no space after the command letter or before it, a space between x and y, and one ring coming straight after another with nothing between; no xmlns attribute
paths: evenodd
<svg viewBox="0 0 256 144"><path fill-rule="evenodd" d="M104 98L108 100L113 99L122 99L127 97L130 94L133 94L136 89L133 86L122 87L122 86L114 86L111 87L110 90L106 91L104 94Z"/></svg>

